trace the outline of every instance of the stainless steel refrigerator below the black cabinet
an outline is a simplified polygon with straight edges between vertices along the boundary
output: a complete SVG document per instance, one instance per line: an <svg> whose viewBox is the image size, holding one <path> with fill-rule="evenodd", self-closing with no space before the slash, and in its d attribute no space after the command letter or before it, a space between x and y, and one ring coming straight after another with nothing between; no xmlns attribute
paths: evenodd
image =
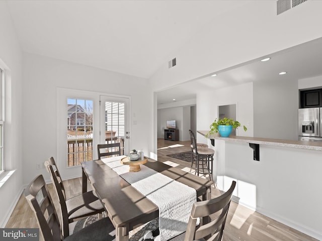
<svg viewBox="0 0 322 241"><path fill-rule="evenodd" d="M322 142L322 108L298 109L298 140Z"/></svg>

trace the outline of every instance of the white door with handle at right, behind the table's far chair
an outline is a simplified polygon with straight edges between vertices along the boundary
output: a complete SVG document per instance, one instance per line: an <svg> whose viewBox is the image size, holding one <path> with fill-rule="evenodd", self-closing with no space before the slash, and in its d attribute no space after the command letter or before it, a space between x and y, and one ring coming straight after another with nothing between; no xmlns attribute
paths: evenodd
<svg viewBox="0 0 322 241"><path fill-rule="evenodd" d="M100 95L100 144L119 142L129 154L129 98Z"/></svg>

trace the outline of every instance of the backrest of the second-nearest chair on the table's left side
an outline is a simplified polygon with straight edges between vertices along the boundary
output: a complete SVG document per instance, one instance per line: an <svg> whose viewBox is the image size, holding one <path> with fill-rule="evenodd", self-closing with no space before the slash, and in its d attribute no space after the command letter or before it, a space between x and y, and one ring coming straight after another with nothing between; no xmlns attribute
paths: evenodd
<svg viewBox="0 0 322 241"><path fill-rule="evenodd" d="M62 226L62 236L66 237L69 235L69 221L68 221L68 211L66 206L66 196L65 190L63 189L62 180L60 178L59 172L56 168L55 161L51 157L45 161L45 167L50 174L51 181L54 185L54 190L58 196L58 202L60 204L60 220Z"/></svg>

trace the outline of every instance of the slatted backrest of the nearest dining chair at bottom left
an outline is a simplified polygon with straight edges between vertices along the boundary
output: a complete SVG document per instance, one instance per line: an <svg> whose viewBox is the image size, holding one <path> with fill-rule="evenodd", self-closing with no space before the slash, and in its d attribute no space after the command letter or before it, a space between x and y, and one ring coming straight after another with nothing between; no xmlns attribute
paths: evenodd
<svg viewBox="0 0 322 241"><path fill-rule="evenodd" d="M36 215L44 240L61 241L58 216L44 177L42 175L37 176L26 188L24 195Z"/></svg>

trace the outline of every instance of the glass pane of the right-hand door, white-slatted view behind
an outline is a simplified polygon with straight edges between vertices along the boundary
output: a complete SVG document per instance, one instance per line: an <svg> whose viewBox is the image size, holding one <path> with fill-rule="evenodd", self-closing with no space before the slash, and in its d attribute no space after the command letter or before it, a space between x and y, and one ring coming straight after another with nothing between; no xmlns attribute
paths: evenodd
<svg viewBox="0 0 322 241"><path fill-rule="evenodd" d="M124 109L123 102L105 102L105 143L120 143L121 155L124 153Z"/></svg>

